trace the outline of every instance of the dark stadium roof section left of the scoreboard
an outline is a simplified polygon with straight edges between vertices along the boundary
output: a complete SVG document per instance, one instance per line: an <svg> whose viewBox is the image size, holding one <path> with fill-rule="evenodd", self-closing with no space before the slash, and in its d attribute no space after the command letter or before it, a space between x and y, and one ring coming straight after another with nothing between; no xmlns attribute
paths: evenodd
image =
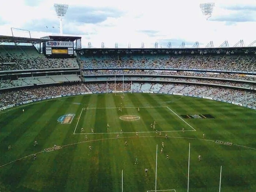
<svg viewBox="0 0 256 192"><path fill-rule="evenodd" d="M26 38L26 37L12 37L12 36L4 36L0 35L0 43L8 42L8 43L32 43L38 44L41 42L49 41L49 39L37 39L37 38Z"/></svg>

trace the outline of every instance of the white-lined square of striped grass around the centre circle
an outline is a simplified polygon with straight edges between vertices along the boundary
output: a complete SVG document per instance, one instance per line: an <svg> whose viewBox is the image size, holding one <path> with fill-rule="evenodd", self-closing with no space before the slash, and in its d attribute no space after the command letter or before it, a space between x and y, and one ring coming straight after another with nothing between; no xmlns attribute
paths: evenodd
<svg viewBox="0 0 256 192"><path fill-rule="evenodd" d="M156 121L154 129L154 121ZM152 127L151 127L152 124ZM107 126L109 125L109 126ZM81 129L83 131L81 132ZM83 108L74 134L195 131L169 107ZM93 129L93 132L91 131Z"/></svg>

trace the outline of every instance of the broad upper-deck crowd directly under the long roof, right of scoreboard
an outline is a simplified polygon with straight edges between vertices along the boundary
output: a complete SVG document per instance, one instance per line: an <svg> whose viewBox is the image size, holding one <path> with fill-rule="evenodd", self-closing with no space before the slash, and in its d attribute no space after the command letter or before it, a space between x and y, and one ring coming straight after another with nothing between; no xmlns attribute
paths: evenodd
<svg viewBox="0 0 256 192"><path fill-rule="evenodd" d="M221 71L256 72L255 56L146 56L132 58L85 57L80 56L79 62L84 69L108 68L150 68L150 69L207 69Z"/></svg>

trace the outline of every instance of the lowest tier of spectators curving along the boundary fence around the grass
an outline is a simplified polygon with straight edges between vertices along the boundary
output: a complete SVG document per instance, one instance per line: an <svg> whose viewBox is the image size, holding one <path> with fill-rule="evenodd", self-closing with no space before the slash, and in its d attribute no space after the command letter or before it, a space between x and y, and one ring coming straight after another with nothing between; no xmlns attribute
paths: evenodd
<svg viewBox="0 0 256 192"><path fill-rule="evenodd" d="M117 83L79 83L60 86L39 87L31 89L22 89L14 91L3 91L0 93L0 107L14 103L20 103L37 98L47 98L50 96L78 94L95 91L123 91L123 84ZM124 91L156 91L160 93L183 93L190 95L198 95L204 97L212 97L215 99L223 99L232 102L238 102L246 105L256 106L256 94L245 90L233 90L219 87L208 87L200 85L184 85L184 84L154 84L154 83L125 83ZM154 89L153 89L154 88Z"/></svg>

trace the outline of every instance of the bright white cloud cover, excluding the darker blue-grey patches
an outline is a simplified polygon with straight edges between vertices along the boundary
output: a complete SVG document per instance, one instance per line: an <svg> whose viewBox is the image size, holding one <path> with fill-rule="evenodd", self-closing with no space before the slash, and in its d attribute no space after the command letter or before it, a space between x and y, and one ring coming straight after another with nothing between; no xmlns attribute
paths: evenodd
<svg viewBox="0 0 256 192"><path fill-rule="evenodd" d="M24 1L15 1L16 6L11 9L11 12L10 5L2 4L0 20L8 23L0 24L2 35L11 35L10 27L22 27L25 22L31 20L57 19L52 0L41 1L37 7L26 6ZM236 11L225 10L225 6L256 6L255 0L214 0L214 2L215 7L211 19L236 13ZM218 46L225 40L228 40L230 45L234 45L240 39L243 39L248 45L255 40L252 29L254 29L256 22L232 22L230 25L226 25L228 24L226 22L211 21L210 19L207 21L199 7L200 3L206 3L204 0L179 0L175 2L170 0L56 0L54 3L67 3L70 7L80 5L112 8L123 13L119 18L108 18L98 24L81 24L78 26L69 23L78 31L89 34L81 35L84 47L89 41L94 47L100 47L101 42L105 42L106 47L114 47L115 42L118 43L119 47L127 47L128 42L131 43L132 47L140 47L142 42L144 42L145 47L153 47L154 42L161 39L181 39L185 42L199 41L201 46L210 41L214 41L214 45ZM102 13L102 10L96 12ZM256 18L256 12L254 14ZM63 25L65 25L65 19ZM140 32L145 30L154 30L158 33L148 35ZM19 33L20 31L16 31L17 36ZM51 35L38 31L31 31L31 34L36 38Z"/></svg>

